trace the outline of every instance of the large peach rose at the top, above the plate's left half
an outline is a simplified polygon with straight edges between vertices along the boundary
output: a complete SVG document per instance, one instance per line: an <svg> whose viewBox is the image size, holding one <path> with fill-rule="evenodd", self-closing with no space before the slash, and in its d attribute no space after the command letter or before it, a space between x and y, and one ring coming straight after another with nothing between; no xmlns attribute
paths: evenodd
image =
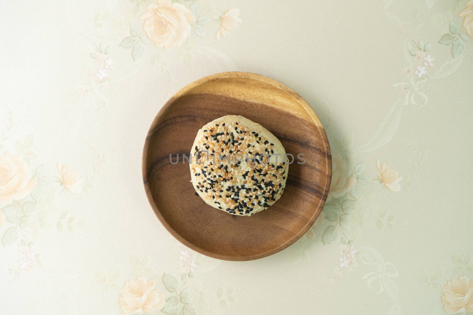
<svg viewBox="0 0 473 315"><path fill-rule="evenodd" d="M195 17L192 12L179 3L171 0L158 0L151 3L146 12L140 16L144 20L143 30L156 47L164 47L165 51L180 46L191 33L191 25Z"/></svg>

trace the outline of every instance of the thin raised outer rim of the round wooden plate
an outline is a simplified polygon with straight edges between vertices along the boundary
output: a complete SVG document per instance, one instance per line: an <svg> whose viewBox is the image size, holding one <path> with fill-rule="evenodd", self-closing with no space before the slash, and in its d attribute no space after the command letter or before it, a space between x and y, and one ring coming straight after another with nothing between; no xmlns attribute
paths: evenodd
<svg viewBox="0 0 473 315"><path fill-rule="evenodd" d="M156 127L156 124L158 122L158 119L161 117L161 115L166 111L166 109L181 95L187 93L189 90L194 88L197 85L201 85L205 82L209 82L210 80L222 78L222 77L243 77L247 79L255 79L259 81L263 81L265 83L271 84L279 88L280 90L291 94L298 103L306 110L306 112L309 114L310 118L312 119L313 123L316 126L320 126L319 132L321 133L322 140L324 143L324 149L325 149L325 156L326 156L326 161L327 161L327 181L324 187L324 191L322 193L322 198L320 199L319 204L317 205L317 208L311 217L309 221L307 221L306 225L299 230L299 232L294 235L292 238L287 240L286 242L280 244L278 247L275 247L271 250L268 250L264 253L259 253L255 255L250 255L250 256L229 256L229 255L223 255L223 254L216 254L213 252L210 252L208 250L205 250L201 247L196 246L195 244L187 241L185 238L183 238L179 233L177 233L164 219L162 216L161 212L159 211L158 207L156 206L156 203L154 202L153 196L151 195L151 190L149 188L149 182L148 182L148 174L146 171L146 160L148 158L148 148L149 148L149 136L152 134L152 131ZM330 145L327 139L327 135L325 133L325 128L320 122L320 119L318 118L317 114L315 114L315 111L309 106L309 104L294 90L289 88L288 86L280 83L279 81L276 81L270 77L265 77L260 74L252 73L252 72L242 72L242 71L228 71L228 72L219 72L212 74L210 76L206 77L201 77L200 79L197 79L188 85L185 85L183 88L181 88L179 91L177 91L173 96L171 96L161 107L161 109L158 111L156 114L155 118L153 119L151 125L149 126L148 133L146 134L145 142L143 145L143 153L142 153L142 159L141 159L141 176L143 180L143 186L145 188L145 193L148 198L148 202L151 205L151 208L153 209L153 212L155 215L158 217L158 220L161 222L161 224L164 226L164 228L175 238L177 239L181 244L183 244L186 247L189 247L195 252L198 252L202 255L206 255L212 258L216 259L221 259L221 260L226 260L226 261L249 261L249 260L255 260L263 257L267 257L273 254L276 254L283 249L289 247L290 245L294 244L299 238L301 238L307 230L310 229L310 227L314 224L315 220L318 218L320 213L322 212L322 208L324 207L325 201L328 196L328 191L330 189L331 181L332 181L332 154L330 151Z"/></svg>

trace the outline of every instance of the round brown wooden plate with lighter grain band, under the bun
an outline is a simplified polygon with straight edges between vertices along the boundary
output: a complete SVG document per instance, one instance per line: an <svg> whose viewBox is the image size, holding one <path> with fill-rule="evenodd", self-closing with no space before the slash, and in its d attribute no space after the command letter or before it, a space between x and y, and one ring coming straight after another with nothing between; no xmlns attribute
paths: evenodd
<svg viewBox="0 0 473 315"><path fill-rule="evenodd" d="M242 115L271 131L286 153L305 154L289 165L281 198L251 217L215 209L195 196L188 162L197 131L224 115ZM179 153L179 163L173 161ZM181 89L153 120L143 149L143 183L159 221L185 246L224 260L252 260L300 238L322 211L332 176L324 128L302 97L253 73L224 72Z"/></svg>

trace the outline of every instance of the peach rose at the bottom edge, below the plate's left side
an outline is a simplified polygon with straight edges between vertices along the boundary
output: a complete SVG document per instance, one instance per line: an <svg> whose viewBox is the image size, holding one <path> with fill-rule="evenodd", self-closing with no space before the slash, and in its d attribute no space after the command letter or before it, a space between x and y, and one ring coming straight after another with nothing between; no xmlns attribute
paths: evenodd
<svg viewBox="0 0 473 315"><path fill-rule="evenodd" d="M123 284L118 303L124 314L149 313L164 306L164 294L153 289L154 280L136 277Z"/></svg>

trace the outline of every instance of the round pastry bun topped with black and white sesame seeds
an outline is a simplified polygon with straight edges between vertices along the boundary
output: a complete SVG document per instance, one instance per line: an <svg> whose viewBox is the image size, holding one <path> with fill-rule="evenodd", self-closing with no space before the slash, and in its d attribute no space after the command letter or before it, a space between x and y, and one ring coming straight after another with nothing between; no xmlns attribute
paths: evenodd
<svg viewBox="0 0 473 315"><path fill-rule="evenodd" d="M195 137L191 182L210 206L253 215L274 204L286 185L289 164L281 142L243 116L210 121Z"/></svg>

